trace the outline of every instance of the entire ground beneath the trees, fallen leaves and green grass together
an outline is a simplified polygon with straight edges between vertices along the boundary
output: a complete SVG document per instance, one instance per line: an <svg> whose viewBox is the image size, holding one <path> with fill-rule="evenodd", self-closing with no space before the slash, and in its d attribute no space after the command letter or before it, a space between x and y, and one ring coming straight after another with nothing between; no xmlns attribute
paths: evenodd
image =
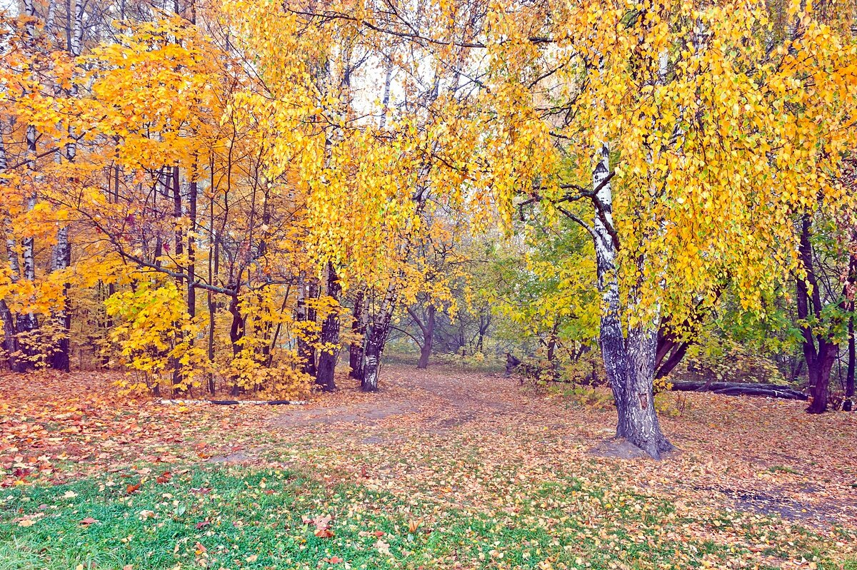
<svg viewBox="0 0 857 570"><path fill-rule="evenodd" d="M679 450L624 460L593 453L609 405L500 375L396 365L300 407L116 379L0 377L0 567L857 569L854 413L671 393Z"/></svg>

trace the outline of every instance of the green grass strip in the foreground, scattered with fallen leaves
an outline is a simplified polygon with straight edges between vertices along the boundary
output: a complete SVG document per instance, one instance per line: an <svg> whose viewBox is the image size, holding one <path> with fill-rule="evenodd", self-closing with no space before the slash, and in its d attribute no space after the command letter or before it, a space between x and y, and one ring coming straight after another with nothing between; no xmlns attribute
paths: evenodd
<svg viewBox="0 0 857 570"><path fill-rule="evenodd" d="M668 502L627 494L610 504L578 480L510 489L486 512L246 466L197 466L162 484L157 474L5 490L0 568L685 568L746 555L671 534L706 521L682 520ZM333 537L316 537L303 517L325 514ZM778 555L812 551L811 535L788 538L794 551Z"/></svg>

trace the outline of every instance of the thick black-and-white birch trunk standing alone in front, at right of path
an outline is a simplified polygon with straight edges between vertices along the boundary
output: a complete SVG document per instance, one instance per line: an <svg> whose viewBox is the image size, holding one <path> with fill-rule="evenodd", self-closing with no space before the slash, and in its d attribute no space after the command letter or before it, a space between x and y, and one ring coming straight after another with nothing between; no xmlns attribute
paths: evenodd
<svg viewBox="0 0 857 570"><path fill-rule="evenodd" d="M616 436L643 449L655 459L673 446L661 431L655 412L652 380L655 372L657 323L622 332L622 309L617 279L618 243L613 226L613 195L609 183L607 145L599 151L593 174L596 216L592 224L598 288L602 294L599 341L604 368L616 402L619 421Z"/></svg>

